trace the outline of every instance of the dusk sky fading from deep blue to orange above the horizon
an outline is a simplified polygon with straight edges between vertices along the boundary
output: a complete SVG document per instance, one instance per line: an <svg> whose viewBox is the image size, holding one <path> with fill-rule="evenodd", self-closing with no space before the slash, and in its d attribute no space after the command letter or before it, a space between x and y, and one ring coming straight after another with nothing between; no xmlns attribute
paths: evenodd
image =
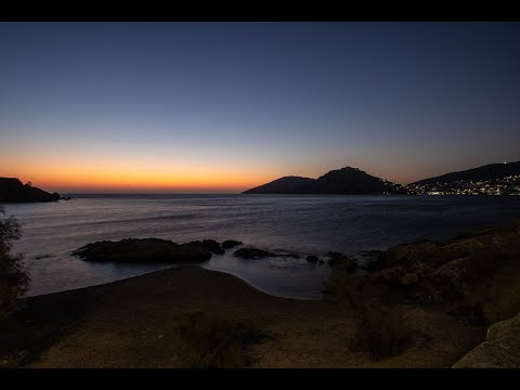
<svg viewBox="0 0 520 390"><path fill-rule="evenodd" d="M0 23L0 177L236 193L520 160L520 23Z"/></svg>

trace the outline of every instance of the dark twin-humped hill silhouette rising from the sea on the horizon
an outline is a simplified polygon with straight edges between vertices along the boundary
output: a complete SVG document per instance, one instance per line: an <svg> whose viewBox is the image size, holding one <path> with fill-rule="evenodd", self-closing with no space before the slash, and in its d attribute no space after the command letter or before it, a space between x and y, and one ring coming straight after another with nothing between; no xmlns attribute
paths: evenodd
<svg viewBox="0 0 520 390"><path fill-rule="evenodd" d="M400 184L373 177L358 168L332 170L317 178L286 177L250 188L244 194L400 194Z"/></svg>

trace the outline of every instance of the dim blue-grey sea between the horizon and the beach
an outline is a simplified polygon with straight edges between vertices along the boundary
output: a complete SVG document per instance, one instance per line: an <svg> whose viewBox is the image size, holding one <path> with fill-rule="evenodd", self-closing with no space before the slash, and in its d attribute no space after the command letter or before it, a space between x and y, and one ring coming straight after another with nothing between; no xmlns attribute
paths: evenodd
<svg viewBox="0 0 520 390"><path fill-rule="evenodd" d="M88 263L70 252L88 243L158 237L178 243L238 239L302 256L362 252L520 218L518 197L313 195L77 195L73 200L8 205L24 226L29 295L103 284L168 264ZM326 265L304 259L240 260L227 252L203 266L235 274L266 292L320 298Z"/></svg>

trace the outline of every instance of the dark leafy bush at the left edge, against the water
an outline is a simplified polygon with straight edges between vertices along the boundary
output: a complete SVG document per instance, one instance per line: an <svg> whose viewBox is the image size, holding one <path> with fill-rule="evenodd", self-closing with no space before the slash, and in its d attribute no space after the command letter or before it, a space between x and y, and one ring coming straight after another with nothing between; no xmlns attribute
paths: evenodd
<svg viewBox="0 0 520 390"><path fill-rule="evenodd" d="M29 277L22 266L22 256L11 255L12 243L22 235L20 223L5 218L0 206L0 320L10 316L20 308L20 297L27 290Z"/></svg>

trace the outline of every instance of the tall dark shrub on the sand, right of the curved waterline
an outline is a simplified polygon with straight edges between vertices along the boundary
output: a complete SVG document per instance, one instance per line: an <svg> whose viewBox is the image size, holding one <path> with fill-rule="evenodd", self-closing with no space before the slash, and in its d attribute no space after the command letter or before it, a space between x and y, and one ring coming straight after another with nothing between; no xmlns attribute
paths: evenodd
<svg viewBox="0 0 520 390"><path fill-rule="evenodd" d="M406 342L404 321L398 311L374 303L372 287L369 275L352 275L341 265L334 265L325 290L346 301L354 313L356 330L351 340L352 349L370 352L375 360L398 355L404 351Z"/></svg>

